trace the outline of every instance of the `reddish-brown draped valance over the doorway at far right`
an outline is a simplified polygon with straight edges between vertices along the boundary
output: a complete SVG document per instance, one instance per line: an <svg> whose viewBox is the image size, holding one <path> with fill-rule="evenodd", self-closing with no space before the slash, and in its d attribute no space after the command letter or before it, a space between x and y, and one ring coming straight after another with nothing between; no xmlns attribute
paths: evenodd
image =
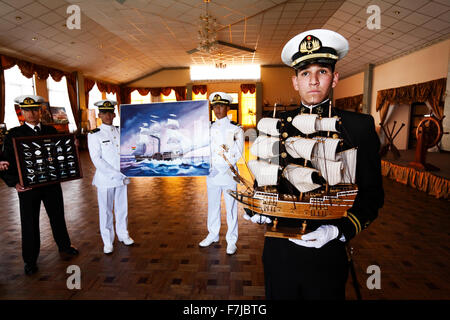
<svg viewBox="0 0 450 320"><path fill-rule="evenodd" d="M439 102L446 90L447 79L441 78L428 82L380 90L377 93L377 111L380 112L381 123L384 123L389 105L392 103L411 104L428 101L436 117L441 120L444 110Z"/></svg>

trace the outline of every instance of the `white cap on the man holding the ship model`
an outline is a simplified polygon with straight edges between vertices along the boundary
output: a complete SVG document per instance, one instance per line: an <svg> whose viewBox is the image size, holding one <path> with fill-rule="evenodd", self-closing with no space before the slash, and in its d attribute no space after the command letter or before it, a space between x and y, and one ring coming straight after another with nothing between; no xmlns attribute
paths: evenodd
<svg viewBox="0 0 450 320"><path fill-rule="evenodd" d="M302 32L289 40L281 52L281 59L294 69L311 63L335 64L348 52L348 41L337 32L314 29Z"/></svg>

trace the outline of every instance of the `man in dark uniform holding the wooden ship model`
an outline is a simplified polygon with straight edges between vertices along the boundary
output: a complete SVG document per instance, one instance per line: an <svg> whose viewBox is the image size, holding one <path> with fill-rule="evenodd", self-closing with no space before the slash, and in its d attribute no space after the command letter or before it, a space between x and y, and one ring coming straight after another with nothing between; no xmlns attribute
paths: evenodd
<svg viewBox="0 0 450 320"><path fill-rule="evenodd" d="M373 118L334 109L330 103L330 91L339 80L335 64L347 51L348 42L342 35L324 29L298 34L282 51L283 62L295 70L292 83L302 103L297 110L280 117L280 164L296 163L286 152L284 142L289 137L303 135L292 125L297 114L338 116L341 121L338 137L343 140L343 150L357 148L359 191L347 217L335 221L307 221L312 232L301 240L266 237L263 265L267 299L345 299L348 275L345 244L370 225L383 205L380 142ZM298 194L283 177L279 178L278 191ZM253 216L252 221L270 223L270 219L258 218L258 215ZM292 219L278 220L279 226L292 226ZM301 228L302 221L297 223Z"/></svg>

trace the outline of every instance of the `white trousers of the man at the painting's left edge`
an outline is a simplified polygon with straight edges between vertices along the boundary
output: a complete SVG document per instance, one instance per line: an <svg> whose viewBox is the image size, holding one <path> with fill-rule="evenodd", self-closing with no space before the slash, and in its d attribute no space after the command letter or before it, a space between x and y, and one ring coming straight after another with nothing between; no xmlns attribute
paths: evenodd
<svg viewBox="0 0 450 320"><path fill-rule="evenodd" d="M105 246L114 242L113 209L116 218L116 233L120 239L128 237L127 186L97 188L100 234Z"/></svg>

